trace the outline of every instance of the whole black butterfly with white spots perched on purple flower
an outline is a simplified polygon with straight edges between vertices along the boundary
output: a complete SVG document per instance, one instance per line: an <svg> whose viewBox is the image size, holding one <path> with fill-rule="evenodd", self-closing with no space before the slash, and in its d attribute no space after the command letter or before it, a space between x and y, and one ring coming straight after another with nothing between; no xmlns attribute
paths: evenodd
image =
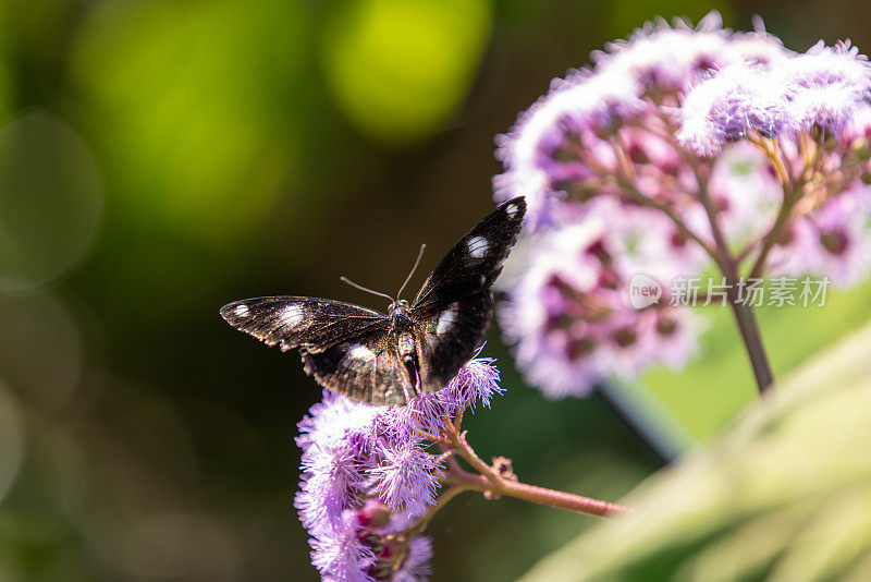
<svg viewBox="0 0 871 582"><path fill-rule="evenodd" d="M441 390L483 341L493 317L491 287L517 240L523 196L487 215L447 252L412 303L343 281L391 301L388 313L305 296L234 301L221 316L282 351L299 349L305 371L323 387L373 405L405 405Z"/></svg>

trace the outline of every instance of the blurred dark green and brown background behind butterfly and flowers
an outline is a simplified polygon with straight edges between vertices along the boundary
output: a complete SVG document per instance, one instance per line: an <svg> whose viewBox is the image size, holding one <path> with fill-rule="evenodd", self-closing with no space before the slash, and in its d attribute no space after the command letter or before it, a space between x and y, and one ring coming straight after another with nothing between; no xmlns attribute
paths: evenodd
<svg viewBox="0 0 871 582"><path fill-rule="evenodd" d="M3 0L0 580L315 579L292 438L320 390L218 308L382 307L339 276L395 289L421 242L431 268L492 206L493 136L552 77L712 8L797 50L871 47L871 4L845 0ZM763 314L775 367L868 317L858 293L836 323ZM712 360L626 392L665 403L676 448L752 397L731 322L709 338ZM468 420L483 457L608 499L662 465L602 396L548 402L496 334L486 353L507 393ZM433 580L516 578L593 523L466 495L431 525Z"/></svg>

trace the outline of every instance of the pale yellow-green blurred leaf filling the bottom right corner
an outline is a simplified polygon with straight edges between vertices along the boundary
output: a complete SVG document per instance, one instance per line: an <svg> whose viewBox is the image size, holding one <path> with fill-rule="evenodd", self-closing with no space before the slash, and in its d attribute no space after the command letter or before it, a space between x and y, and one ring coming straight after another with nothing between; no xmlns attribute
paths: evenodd
<svg viewBox="0 0 871 582"><path fill-rule="evenodd" d="M642 483L524 580L864 580L871 568L871 325L725 436Z"/></svg>

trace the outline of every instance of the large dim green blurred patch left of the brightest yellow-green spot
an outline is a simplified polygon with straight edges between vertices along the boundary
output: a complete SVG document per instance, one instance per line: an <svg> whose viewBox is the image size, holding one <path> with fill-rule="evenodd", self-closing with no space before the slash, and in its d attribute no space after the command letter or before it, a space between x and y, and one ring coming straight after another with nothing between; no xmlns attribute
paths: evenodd
<svg viewBox="0 0 871 582"><path fill-rule="evenodd" d="M205 240L248 232L299 163L305 3L111 2L73 76L127 208Z"/></svg>

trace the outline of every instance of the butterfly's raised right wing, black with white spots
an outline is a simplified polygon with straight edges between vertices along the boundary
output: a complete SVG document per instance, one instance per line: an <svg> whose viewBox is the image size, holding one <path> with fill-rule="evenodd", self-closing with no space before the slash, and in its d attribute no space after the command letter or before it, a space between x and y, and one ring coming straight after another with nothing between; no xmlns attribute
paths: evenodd
<svg viewBox="0 0 871 582"><path fill-rule="evenodd" d="M442 389L483 341L493 282L523 227L523 197L499 205L447 252L412 304L424 393Z"/></svg>

